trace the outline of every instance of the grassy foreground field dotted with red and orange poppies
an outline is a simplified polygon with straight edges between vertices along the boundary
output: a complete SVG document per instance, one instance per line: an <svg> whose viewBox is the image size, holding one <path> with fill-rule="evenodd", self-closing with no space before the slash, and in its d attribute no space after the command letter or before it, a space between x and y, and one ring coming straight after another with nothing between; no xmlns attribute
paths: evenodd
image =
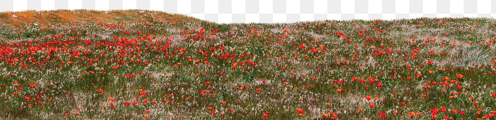
<svg viewBox="0 0 496 120"><path fill-rule="evenodd" d="M0 28L0 118L496 119L496 20Z"/></svg>

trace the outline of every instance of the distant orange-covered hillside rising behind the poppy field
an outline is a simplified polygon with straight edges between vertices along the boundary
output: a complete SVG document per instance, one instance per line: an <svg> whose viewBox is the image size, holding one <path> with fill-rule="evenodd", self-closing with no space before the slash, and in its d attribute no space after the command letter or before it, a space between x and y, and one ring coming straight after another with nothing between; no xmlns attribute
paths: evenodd
<svg viewBox="0 0 496 120"><path fill-rule="evenodd" d="M24 26L47 27L52 25L79 25L115 22L195 22L199 19L181 14L150 10L54 10L1 12L0 25L20 28Z"/></svg>

